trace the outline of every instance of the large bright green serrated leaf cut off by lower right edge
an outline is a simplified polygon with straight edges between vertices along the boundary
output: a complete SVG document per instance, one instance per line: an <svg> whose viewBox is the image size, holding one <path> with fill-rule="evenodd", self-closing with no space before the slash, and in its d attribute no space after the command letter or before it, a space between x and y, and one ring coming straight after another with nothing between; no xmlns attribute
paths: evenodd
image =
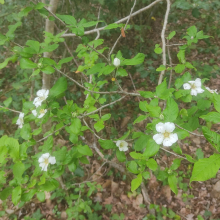
<svg viewBox="0 0 220 220"><path fill-rule="evenodd" d="M220 154L214 154L209 158L199 159L193 167L192 181L206 181L215 177L220 168Z"/></svg>

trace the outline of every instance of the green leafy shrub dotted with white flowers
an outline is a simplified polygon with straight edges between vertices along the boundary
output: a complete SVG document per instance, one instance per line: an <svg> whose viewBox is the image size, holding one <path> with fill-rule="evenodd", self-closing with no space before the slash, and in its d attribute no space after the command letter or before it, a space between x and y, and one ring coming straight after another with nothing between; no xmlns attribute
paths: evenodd
<svg viewBox="0 0 220 220"><path fill-rule="evenodd" d="M38 3L28 9L41 12L45 4ZM25 9L21 12L21 18L28 14ZM72 34L84 35L84 29L94 26L98 21L87 22L82 19L76 21L70 15L56 15L66 25ZM21 26L21 21L9 27L8 33L0 35L1 42L7 43L14 39L13 32ZM123 25L125 26L125 25ZM108 25L106 29L122 27L121 24ZM211 130L211 124L220 122L220 96L216 90L204 87L206 79L195 79L188 71L191 69L196 73L196 68L186 61L185 51L192 44L199 40L208 38L202 31L197 31L195 26L187 29L186 44L179 47L177 57L179 64L174 67L161 65L157 71L173 70L177 74L173 88L168 88L167 81L156 86L154 91L124 91L120 84L123 77L128 76L129 66L139 65L144 62L145 55L138 53L131 59L123 58L121 51L115 54L109 53L109 58L104 54L106 47L103 47L104 40L96 39L91 42L79 44L76 53L81 60L76 73L82 73L87 81L77 81L71 74L64 73L62 65L70 63L73 57L65 57L60 60L42 57L44 52L52 52L59 47L59 42L63 42L64 32L52 35L45 32L44 42L28 40L25 45L14 46L13 55L0 64L0 69L4 68L8 62L19 61L19 68L22 70L32 69L31 77L55 72L62 75L50 90L42 89L37 91L37 97L33 101L24 101L18 118L15 119L19 129L19 139L4 135L0 139L0 198L6 200L10 195L12 202L17 205L19 202L27 202L36 194L39 201L45 200L45 191L51 192L61 187L62 193L66 195L69 209L69 218L73 218L83 209L80 204L84 204L84 210L90 212L89 205L80 199L72 203L74 196L68 193L74 187L71 184L65 185L63 174L69 172L73 174L79 169L80 164L88 164L88 157L95 152L104 163L111 164L110 157L105 157L111 149L112 155L124 164L127 171L134 174L131 182L131 191L136 190L142 181L149 179L150 173L158 169L158 164L154 156L160 151L172 152L178 148L179 154L174 153L177 159L172 167L164 174L168 179L168 184L174 193L178 193L177 178L175 170L180 166L181 160L188 160L194 164L190 181L205 181L217 173L220 168L220 154L215 153L209 158L193 158L193 155L182 155L178 143L191 135L204 136L208 142L220 151L220 135ZM172 39L174 33L168 38ZM114 49L114 48L113 48ZM156 46L155 52L162 53L162 48ZM99 58L104 61L100 62ZM184 74L183 74L184 73ZM108 78L112 80L107 80ZM68 89L68 82L73 82L84 90L85 100L73 102L66 100L65 104L59 101L64 97ZM106 90L106 88L108 88ZM134 126L130 128L122 137L106 138L100 136L106 127L106 122L110 120L112 114L102 113L102 109L112 107L114 104L126 100L125 97L138 97L141 115L133 122L133 125L142 121L147 121L146 130L135 131ZM186 108L180 108L179 103L185 103ZM213 106L213 107L212 107ZM4 110L13 111L6 106ZM201 124L199 119L207 123ZM91 122L88 123L88 120ZM53 122L50 130L43 131L43 125ZM34 126L31 126L34 124ZM34 129L34 127L36 129ZM59 132L67 133L67 140L71 147L58 147L54 143L54 136ZM197 130L197 132L195 132ZM84 132L90 131L97 138L100 146L91 142L86 142ZM203 133L203 134L198 134ZM39 138L39 136L41 136ZM28 149L35 149L34 154ZM169 147L172 147L170 149ZM51 156L53 155L53 156ZM8 181L7 171L10 163L13 179ZM50 165L49 165L50 164ZM27 175L31 173L32 175ZM84 183L83 183L84 184ZM85 186L85 185L83 185ZM95 187L87 183L91 190L90 196ZM86 208L85 208L86 207Z"/></svg>

